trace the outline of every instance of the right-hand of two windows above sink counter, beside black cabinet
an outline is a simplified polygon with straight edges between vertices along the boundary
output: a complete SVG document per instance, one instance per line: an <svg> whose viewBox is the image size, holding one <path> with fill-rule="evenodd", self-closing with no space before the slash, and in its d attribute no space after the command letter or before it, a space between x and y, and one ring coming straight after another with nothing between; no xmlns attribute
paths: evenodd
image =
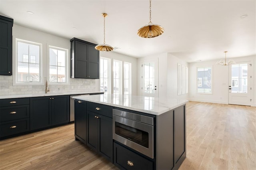
<svg viewBox="0 0 256 170"><path fill-rule="evenodd" d="M67 49L49 47L49 82L67 82Z"/></svg>

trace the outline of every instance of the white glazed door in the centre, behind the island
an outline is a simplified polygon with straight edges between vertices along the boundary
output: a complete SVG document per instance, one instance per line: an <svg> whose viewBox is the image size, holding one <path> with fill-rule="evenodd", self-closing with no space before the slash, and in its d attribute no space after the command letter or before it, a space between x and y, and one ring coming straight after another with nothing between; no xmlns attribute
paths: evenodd
<svg viewBox="0 0 256 170"><path fill-rule="evenodd" d="M142 62L142 96L158 97L158 59Z"/></svg>

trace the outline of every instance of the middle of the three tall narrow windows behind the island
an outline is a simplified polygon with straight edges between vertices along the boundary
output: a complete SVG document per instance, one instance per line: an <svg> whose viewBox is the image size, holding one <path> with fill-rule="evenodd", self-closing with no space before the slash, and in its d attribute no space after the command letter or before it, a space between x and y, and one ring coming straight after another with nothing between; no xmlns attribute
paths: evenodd
<svg viewBox="0 0 256 170"><path fill-rule="evenodd" d="M121 94L121 61L113 61L113 93Z"/></svg>

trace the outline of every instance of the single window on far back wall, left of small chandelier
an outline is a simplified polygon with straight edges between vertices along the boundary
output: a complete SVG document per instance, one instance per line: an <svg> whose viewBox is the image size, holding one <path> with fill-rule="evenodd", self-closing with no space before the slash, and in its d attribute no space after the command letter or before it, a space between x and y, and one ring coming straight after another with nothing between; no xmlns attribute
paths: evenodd
<svg viewBox="0 0 256 170"><path fill-rule="evenodd" d="M212 67L197 68L197 93L212 93Z"/></svg>

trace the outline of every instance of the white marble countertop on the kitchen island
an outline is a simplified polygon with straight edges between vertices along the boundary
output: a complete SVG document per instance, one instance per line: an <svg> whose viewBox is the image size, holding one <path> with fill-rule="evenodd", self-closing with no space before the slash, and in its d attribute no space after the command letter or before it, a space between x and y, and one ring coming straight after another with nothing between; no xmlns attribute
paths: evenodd
<svg viewBox="0 0 256 170"><path fill-rule="evenodd" d="M149 113L152 115L161 115L162 113L175 109L176 107L184 105L188 102L188 100L182 99L114 94L77 96L74 97L74 99L100 103L103 105L109 105L123 109L129 109L132 111Z"/></svg>

